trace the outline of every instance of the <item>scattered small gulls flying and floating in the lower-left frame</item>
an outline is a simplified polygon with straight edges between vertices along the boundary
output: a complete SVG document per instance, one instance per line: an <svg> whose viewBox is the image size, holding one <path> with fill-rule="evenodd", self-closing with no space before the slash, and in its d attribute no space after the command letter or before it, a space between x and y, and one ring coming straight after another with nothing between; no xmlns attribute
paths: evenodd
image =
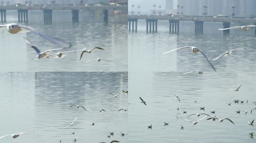
<svg viewBox="0 0 256 143"><path fill-rule="evenodd" d="M128 96L128 90L121 90L121 91L119 91L116 95L114 95L114 94L112 94L112 93L110 93L110 92L108 92L108 93L110 93L110 94L112 94L112 95L114 95L114 97L115 98L117 98L117 96L118 95L120 95L120 93L121 92L123 92L125 95L127 95ZM84 110L84 111L88 111L88 110L86 110L86 108L84 107L84 106L81 106L81 105L70 105L68 108L77 108L77 109L82 109L82 110ZM128 109L117 109L116 110L116 112L127 112L128 111ZM104 109L100 109L99 111L99 114L100 114L100 112L107 112L106 110L104 110ZM77 118L78 117L76 117L70 124L68 124L68 125L66 125L65 127L62 127L61 129L66 129L66 128L70 128L70 126L76 126L77 124L76 124L76 120L77 120ZM92 123L91 125L96 125L95 123ZM76 129L76 128L73 128L73 129ZM2 137L0 137L0 139L2 139L2 138L4 138L4 137L8 137L8 136L12 136L12 138L13 139L16 139L17 137L19 137L20 135L22 135L22 134L33 134L33 133L35 133L35 131L31 131L31 132L22 132L22 133L16 133L16 134L8 134L8 135L5 135L5 136L2 136ZM72 133L71 133L72 135L74 135L75 134L75 132L73 131ZM114 136L114 132L110 132L110 134L109 135L107 135L107 138L110 138L110 136ZM122 131L120 132L120 136L121 137L124 137L125 136L125 133L122 133ZM73 142L77 142L78 141L78 139L77 139L77 137L73 137ZM63 142L63 140L59 140L59 142L61 143L61 142ZM119 143L119 142L121 142L120 140L112 140L110 143ZM106 143L106 142L101 142L101 143Z"/></svg>

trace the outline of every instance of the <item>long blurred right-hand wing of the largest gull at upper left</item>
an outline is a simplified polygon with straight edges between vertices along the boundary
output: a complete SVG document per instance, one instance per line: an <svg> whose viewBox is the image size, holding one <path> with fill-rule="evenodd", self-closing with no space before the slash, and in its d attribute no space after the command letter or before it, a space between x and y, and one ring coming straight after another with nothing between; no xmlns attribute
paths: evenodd
<svg viewBox="0 0 256 143"><path fill-rule="evenodd" d="M61 45L63 47L66 47L66 48L69 48L71 46L70 43L67 43L67 42L65 42L65 41L63 41L61 39L57 39L57 38L54 38L54 37L46 35L46 34L42 34L41 32L36 31L36 29L34 29L32 27L24 26L24 25L19 25L19 27L27 29L27 30L29 30L29 31L31 31L31 32L33 32L33 33L35 33L35 34L37 34L37 35L39 35L39 36L41 36L41 37L51 41L51 42L53 42L54 44L59 44L59 45Z"/></svg>

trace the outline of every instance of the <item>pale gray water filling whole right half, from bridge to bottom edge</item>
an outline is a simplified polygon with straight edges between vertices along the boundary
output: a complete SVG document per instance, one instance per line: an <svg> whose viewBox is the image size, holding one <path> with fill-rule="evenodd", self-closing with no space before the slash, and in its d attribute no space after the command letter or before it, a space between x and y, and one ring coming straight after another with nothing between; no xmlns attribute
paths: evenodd
<svg viewBox="0 0 256 143"><path fill-rule="evenodd" d="M246 100L248 103L256 101L254 29L247 32L231 30L230 35L223 36L222 31L217 31L218 27L222 27L222 23L205 22L204 33L196 35L192 22L181 22L179 34L169 34L168 22L160 21L158 33L147 34L146 22L139 20L138 32L129 32L129 142L255 142L249 134L256 133L255 127L247 122L256 119L256 112L247 115L243 111L241 114L235 112L237 108L248 110L256 107L255 104L246 104ZM217 70L214 72L201 54L194 54L191 50L161 54L183 46L196 46L209 59L234 48L245 47L246 50L234 51L230 56L213 61ZM183 74L189 71L204 73ZM240 85L238 92L230 90ZM180 97L180 102L174 95ZM139 97L146 101L147 106L140 103ZM244 101L244 104L235 104L234 99ZM205 107L205 111L200 107ZM183 114L183 110L187 114ZM211 114L210 111L214 110L216 113ZM235 125L229 121L212 120L201 120L192 125L182 120L198 113L228 117ZM202 117L194 115L189 120ZM164 122L169 125L164 126ZM147 129L150 124L152 130ZM180 130L181 125L184 130Z"/></svg>

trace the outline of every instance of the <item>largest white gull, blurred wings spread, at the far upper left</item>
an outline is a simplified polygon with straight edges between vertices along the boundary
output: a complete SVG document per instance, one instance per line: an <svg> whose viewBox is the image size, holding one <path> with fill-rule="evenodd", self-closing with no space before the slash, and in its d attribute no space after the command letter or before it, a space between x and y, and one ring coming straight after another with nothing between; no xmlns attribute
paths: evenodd
<svg viewBox="0 0 256 143"><path fill-rule="evenodd" d="M29 27L29 26L25 26L25 25L19 25L19 24L16 24L16 23L9 23L9 24L6 24L6 25L0 25L0 29L1 28L4 28L6 27L7 31L10 33L10 34L16 34L18 32L33 32L51 42L53 42L54 44L59 44L61 45L62 47L65 47L65 48L69 48L71 46L70 43L67 43L61 39L57 39L57 38L54 38L52 36L49 36L49 35L46 35L46 34L42 34L38 31L36 31L36 29L32 28L32 27Z"/></svg>

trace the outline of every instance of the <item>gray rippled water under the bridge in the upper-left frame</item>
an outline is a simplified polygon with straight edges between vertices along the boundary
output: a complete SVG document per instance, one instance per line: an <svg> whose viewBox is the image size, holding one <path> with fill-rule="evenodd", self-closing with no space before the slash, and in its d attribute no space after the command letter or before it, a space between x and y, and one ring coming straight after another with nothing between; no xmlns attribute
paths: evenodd
<svg viewBox="0 0 256 143"><path fill-rule="evenodd" d="M79 22L73 23L70 10L54 10L52 24L44 24L42 10L30 10L28 26L37 31L58 37L72 44L69 50L91 49L99 46L106 50L95 50L83 56L83 62L97 58L110 60L84 64L79 62L80 52L68 54L61 59L36 58L36 52L29 47L22 36L41 51L58 48L51 42L32 32L9 34L0 30L0 71L127 71L127 16L109 16L109 22L102 15L91 16L86 11L79 12ZM7 10L6 23L18 23L17 11ZM6 24L0 23L0 24ZM26 23L19 23L26 25ZM52 53L58 51L52 51Z"/></svg>

